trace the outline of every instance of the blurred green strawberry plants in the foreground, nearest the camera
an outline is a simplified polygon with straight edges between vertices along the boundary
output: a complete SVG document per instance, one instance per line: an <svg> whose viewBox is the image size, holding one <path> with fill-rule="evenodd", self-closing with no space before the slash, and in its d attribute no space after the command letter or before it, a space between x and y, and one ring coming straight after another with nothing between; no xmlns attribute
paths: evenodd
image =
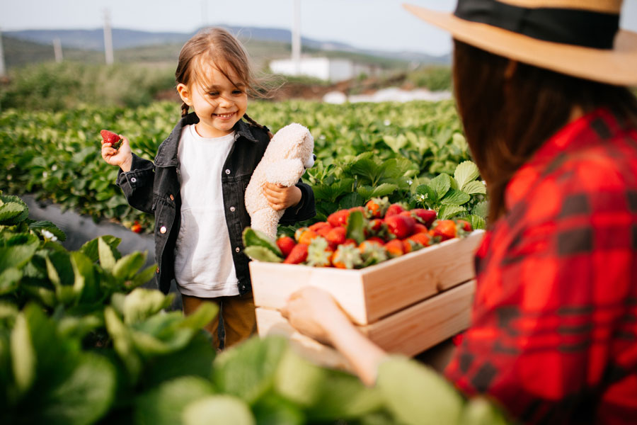
<svg viewBox="0 0 637 425"><path fill-rule="evenodd" d="M312 365L283 339L253 337L216 355L217 314L166 311L139 288L144 253L103 236L77 251L53 223L0 194L0 422L4 424L505 424L408 359L365 387ZM416 397L418 404L409 402Z"/></svg>

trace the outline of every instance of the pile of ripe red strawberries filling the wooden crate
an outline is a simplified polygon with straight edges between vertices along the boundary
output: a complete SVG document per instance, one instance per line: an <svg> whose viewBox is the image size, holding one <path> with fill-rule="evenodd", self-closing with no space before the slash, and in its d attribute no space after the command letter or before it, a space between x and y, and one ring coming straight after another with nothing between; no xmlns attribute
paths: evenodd
<svg viewBox="0 0 637 425"><path fill-rule="evenodd" d="M387 198L338 210L326 222L276 241L289 264L363 268L471 232L466 220L436 220L435 210L406 210Z"/></svg>

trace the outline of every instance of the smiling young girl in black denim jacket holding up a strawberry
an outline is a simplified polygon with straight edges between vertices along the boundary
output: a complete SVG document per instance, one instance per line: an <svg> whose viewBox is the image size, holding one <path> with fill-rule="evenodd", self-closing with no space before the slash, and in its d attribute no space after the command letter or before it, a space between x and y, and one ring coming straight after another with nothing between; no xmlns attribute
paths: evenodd
<svg viewBox="0 0 637 425"><path fill-rule="evenodd" d="M248 92L258 94L258 82L246 51L226 30L204 30L188 40L175 74L182 118L154 162L132 154L125 137L118 150L103 142L102 157L120 166L117 186L130 205L155 215L159 288L168 293L174 278L185 314L203 301L216 302L228 347L255 329L241 241L250 225L243 193L272 134L246 114ZM301 181L290 187L268 184L264 191L273 208L286 209L282 224L316 213L314 194ZM215 319L206 328L215 346L218 324Z"/></svg>

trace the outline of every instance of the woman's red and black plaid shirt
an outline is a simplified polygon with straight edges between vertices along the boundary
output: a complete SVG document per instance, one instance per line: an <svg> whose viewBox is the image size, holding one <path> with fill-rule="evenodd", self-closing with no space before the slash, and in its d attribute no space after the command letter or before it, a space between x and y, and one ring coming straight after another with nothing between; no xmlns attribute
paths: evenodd
<svg viewBox="0 0 637 425"><path fill-rule="evenodd" d="M447 377L526 423L637 424L637 130L566 125L505 200Z"/></svg>

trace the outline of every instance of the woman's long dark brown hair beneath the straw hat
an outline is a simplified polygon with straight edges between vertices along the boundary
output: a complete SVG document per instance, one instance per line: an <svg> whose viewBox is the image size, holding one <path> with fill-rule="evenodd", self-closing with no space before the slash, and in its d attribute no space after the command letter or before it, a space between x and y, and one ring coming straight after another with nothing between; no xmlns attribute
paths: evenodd
<svg viewBox="0 0 637 425"><path fill-rule="evenodd" d="M607 107L637 126L629 89L510 61L454 40L454 91L471 155L487 183L489 221L505 211L505 188L551 135L584 113Z"/></svg>

